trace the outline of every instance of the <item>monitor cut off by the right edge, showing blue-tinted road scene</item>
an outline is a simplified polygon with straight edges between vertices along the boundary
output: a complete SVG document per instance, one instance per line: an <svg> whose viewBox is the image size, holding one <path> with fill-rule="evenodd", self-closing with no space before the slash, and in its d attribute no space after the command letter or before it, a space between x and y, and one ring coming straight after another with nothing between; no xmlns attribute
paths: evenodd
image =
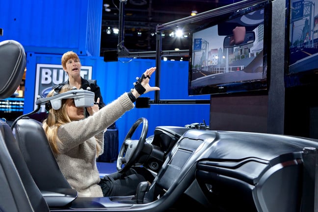
<svg viewBox="0 0 318 212"><path fill-rule="evenodd" d="M285 86L318 86L318 0L287 0Z"/></svg>

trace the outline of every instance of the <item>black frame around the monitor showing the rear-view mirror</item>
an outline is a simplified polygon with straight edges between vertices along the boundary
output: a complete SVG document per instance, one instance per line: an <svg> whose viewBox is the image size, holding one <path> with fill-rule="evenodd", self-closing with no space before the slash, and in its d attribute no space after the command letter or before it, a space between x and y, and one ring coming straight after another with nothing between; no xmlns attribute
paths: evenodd
<svg viewBox="0 0 318 212"><path fill-rule="evenodd" d="M264 41L263 41L263 73L258 79L246 79L246 80L232 80L224 83L211 83L211 84L199 84L192 85L194 82L192 79L192 60L193 60L193 35L200 33L204 30L208 30L211 27L215 27L219 23L233 20L239 16L255 12L257 10L264 9ZM270 72L270 42L271 42L271 1L263 1L253 5L242 5L239 9L227 10L222 14L216 14L208 19L199 20L199 24L195 25L189 31L189 73L188 73L188 95L206 95L211 94L213 96L228 96L228 95L260 95L268 93L268 81Z"/></svg>

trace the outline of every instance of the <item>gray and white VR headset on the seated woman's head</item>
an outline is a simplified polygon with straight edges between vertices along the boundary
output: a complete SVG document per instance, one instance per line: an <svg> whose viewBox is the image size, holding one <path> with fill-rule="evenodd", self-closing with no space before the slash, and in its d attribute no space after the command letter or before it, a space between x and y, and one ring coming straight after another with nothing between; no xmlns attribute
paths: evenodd
<svg viewBox="0 0 318 212"><path fill-rule="evenodd" d="M95 94L92 91L74 89L61 94L54 94L52 97L40 98L36 100L36 105L44 105L47 110L61 108L62 99L74 99L76 107L90 107L94 105Z"/></svg>

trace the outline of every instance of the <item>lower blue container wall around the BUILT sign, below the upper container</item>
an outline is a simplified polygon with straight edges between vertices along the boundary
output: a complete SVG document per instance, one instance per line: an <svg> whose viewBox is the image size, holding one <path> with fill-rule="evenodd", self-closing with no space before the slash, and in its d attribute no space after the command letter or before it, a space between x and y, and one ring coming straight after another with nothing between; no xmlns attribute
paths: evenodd
<svg viewBox="0 0 318 212"><path fill-rule="evenodd" d="M27 75L25 92L25 110L30 112L34 104L34 86L36 64L60 64L61 55L27 53ZM122 93L133 87L136 77L149 67L154 67L153 59L133 59L126 62L104 62L103 57L80 56L83 66L93 66L92 79L97 79L105 103L117 99ZM120 59L124 61L124 59ZM128 62L130 61L130 62ZM210 96L187 96L187 66L185 61L165 61L161 64L160 99L210 99ZM151 78L155 86L155 74ZM143 97L154 99L154 92ZM148 135L153 134L156 126L185 126L194 122L209 124L210 105L151 105L150 108L134 108L125 113L117 122L119 147L132 124L140 117L149 121Z"/></svg>

